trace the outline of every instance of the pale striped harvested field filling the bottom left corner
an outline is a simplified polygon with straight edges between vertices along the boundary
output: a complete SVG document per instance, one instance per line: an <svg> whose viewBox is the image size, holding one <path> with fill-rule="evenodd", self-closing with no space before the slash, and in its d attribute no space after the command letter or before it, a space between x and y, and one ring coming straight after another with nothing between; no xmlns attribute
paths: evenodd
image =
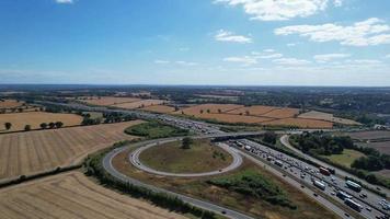
<svg viewBox="0 0 390 219"><path fill-rule="evenodd" d="M185 218L99 186L80 172L59 174L0 192L1 218Z"/></svg>

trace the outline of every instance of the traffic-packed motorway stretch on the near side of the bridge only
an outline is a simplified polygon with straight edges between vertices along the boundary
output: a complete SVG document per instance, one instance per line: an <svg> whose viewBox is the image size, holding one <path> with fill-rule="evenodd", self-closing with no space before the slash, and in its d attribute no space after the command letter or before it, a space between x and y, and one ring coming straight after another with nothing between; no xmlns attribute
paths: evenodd
<svg viewBox="0 0 390 219"><path fill-rule="evenodd" d="M273 163L279 171L289 172L289 175L299 182L316 186L317 189L312 194L314 198L319 194L326 195L341 205L348 206L364 218L386 218L387 212L383 206L386 206L387 201L383 198L364 188L360 188L360 192L356 192L346 186L344 178L340 178L334 174L323 174L316 166L251 140L242 139L228 141L228 143L232 147L242 148L264 162ZM358 206L353 206L354 204L347 203L348 200Z"/></svg>

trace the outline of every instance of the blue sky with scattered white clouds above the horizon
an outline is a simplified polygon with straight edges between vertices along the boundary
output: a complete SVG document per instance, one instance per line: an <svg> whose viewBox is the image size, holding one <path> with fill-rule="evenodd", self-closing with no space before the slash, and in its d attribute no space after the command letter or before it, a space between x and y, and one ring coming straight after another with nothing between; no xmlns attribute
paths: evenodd
<svg viewBox="0 0 390 219"><path fill-rule="evenodd" d="M1 0L0 83L390 85L388 0Z"/></svg>

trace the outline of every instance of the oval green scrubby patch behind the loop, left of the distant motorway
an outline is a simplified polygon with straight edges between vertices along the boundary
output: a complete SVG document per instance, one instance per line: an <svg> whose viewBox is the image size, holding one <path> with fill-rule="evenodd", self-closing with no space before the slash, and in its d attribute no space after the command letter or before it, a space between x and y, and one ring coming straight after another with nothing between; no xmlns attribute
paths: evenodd
<svg viewBox="0 0 390 219"><path fill-rule="evenodd" d="M130 126L125 129L125 132L133 136L146 137L148 139L188 135L188 130L164 125L158 122L148 122L148 123Z"/></svg>

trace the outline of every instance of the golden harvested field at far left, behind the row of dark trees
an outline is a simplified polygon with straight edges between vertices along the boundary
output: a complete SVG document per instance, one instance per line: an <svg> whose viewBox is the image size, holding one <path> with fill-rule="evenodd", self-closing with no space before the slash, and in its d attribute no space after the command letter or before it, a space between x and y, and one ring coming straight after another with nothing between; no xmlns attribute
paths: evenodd
<svg viewBox="0 0 390 219"><path fill-rule="evenodd" d="M24 130L25 125L31 125L32 129L41 128L42 123L56 123L62 122L64 126L80 125L82 117L76 114L62 114L62 113L46 113L46 112L26 112L26 113L11 113L0 114L0 132ZM10 130L5 130L4 123L11 123Z"/></svg>

